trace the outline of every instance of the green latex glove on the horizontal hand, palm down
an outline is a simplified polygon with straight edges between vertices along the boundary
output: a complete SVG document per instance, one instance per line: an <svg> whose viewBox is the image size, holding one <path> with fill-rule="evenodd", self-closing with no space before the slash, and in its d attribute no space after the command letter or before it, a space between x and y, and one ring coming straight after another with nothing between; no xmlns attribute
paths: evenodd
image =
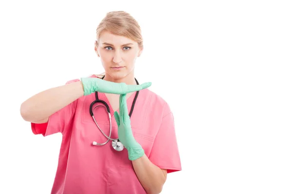
<svg viewBox="0 0 292 194"><path fill-rule="evenodd" d="M148 88L151 82L146 82L141 85L127 85L126 83L115 83L106 81L101 78L81 78L83 84L84 96L90 95L95 91L111 94L127 94Z"/></svg>

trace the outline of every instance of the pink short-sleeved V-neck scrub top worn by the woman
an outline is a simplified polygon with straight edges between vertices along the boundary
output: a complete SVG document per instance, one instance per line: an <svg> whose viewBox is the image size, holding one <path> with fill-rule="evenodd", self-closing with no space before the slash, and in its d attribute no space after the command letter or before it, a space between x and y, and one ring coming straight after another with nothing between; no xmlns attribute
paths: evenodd
<svg viewBox="0 0 292 194"><path fill-rule="evenodd" d="M80 80L66 84L75 81ZM104 93L98 93L98 97L110 107L111 138L117 138L114 110ZM128 111L134 97L135 93L127 99ZM94 100L95 93L80 97L50 116L47 123L31 123L36 135L61 133L63 136L52 194L146 194L126 148L121 152L114 150L111 140L103 146L92 145L93 141L107 140L90 115L90 104ZM97 107L93 113L99 127L109 136L110 121L106 110ZM130 119L133 136L149 160L167 169L167 173L181 171L173 115L164 99L148 89L141 90Z"/></svg>

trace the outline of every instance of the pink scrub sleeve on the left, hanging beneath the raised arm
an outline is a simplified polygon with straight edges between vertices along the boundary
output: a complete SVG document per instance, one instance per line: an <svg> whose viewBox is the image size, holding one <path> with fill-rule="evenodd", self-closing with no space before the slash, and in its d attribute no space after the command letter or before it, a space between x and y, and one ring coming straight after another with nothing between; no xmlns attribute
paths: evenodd
<svg viewBox="0 0 292 194"><path fill-rule="evenodd" d="M79 79L68 81L66 84L76 81L79 81ZM32 132L35 135L41 134L43 136L49 136L56 133L64 134L72 128L76 104L77 100L55 112L49 117L49 120L46 123L31 123Z"/></svg>

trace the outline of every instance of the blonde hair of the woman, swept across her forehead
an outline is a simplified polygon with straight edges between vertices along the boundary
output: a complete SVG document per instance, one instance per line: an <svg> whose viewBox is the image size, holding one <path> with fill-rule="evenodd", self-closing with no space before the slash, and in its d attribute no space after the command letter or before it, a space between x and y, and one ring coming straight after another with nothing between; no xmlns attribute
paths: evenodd
<svg viewBox="0 0 292 194"><path fill-rule="evenodd" d="M96 28L97 45L100 34L103 31L109 31L112 34L127 37L138 43L143 49L143 38L139 23L129 13L125 11L108 12ZM102 78L105 73L94 74L97 78Z"/></svg>

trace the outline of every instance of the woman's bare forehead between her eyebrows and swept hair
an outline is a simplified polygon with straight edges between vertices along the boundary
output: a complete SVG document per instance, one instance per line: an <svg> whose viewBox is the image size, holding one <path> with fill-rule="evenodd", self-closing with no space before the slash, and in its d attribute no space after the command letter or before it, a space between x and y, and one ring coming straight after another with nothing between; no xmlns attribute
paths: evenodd
<svg viewBox="0 0 292 194"><path fill-rule="evenodd" d="M136 43L134 40L128 39L127 37L112 34L108 31L104 31L100 34L99 42L100 44L107 42L107 43L117 45L117 46L127 44L127 43L133 43L133 44Z"/></svg>

